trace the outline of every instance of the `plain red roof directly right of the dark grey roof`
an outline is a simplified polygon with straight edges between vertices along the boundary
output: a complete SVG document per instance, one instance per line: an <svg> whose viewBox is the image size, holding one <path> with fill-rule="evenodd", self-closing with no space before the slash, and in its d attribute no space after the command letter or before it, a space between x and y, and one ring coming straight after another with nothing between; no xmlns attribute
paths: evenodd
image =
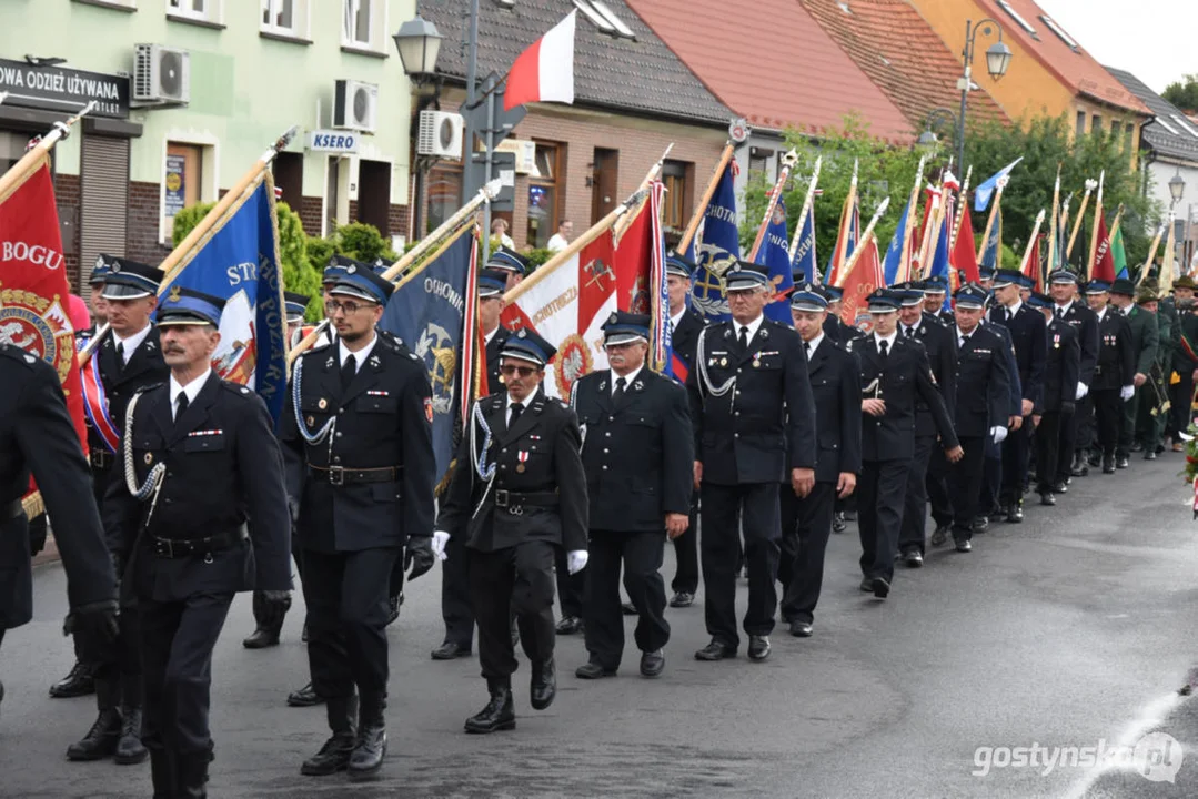
<svg viewBox="0 0 1198 799"><path fill-rule="evenodd" d="M755 127L818 133L858 113L908 144L914 126L797 0L627 0L707 87Z"/></svg>

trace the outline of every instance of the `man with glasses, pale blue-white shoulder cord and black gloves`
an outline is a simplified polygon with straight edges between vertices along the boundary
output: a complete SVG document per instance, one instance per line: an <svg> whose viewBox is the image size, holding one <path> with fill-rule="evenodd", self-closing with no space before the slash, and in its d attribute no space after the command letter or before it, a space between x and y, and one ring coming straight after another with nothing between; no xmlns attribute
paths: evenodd
<svg viewBox="0 0 1198 799"><path fill-rule="evenodd" d="M280 420L303 549L308 664L333 736L301 773L365 776L387 752L388 593L432 568L428 370L375 329L394 286L350 264L328 289L333 344L303 353Z"/></svg>

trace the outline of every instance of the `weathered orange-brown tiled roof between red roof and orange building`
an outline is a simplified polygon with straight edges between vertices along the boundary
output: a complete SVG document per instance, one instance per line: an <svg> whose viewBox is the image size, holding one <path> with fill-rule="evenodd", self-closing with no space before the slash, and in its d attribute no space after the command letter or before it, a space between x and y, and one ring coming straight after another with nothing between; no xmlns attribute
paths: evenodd
<svg viewBox="0 0 1198 799"><path fill-rule="evenodd" d="M961 59L906 0L799 1L902 109L910 125L922 129L933 108L960 113ZM968 114L972 120L1009 121L985 90L969 92Z"/></svg>

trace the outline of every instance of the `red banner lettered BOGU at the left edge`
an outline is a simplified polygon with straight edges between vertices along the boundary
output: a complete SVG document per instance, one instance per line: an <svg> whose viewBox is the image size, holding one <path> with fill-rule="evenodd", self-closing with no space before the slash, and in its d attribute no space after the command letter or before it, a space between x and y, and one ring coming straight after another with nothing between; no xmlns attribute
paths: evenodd
<svg viewBox="0 0 1198 799"><path fill-rule="evenodd" d="M0 199L0 343L54 367L80 446L86 447L83 391L74 368L75 331L67 314L69 293L47 159Z"/></svg>

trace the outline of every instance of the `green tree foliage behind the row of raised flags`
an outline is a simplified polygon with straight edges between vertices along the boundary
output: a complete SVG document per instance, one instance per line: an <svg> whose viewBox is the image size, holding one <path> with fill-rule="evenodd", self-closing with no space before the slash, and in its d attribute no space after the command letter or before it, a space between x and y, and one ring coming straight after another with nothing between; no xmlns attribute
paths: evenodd
<svg viewBox="0 0 1198 799"><path fill-rule="evenodd" d="M1123 202L1126 208L1120 226L1124 231L1129 262L1143 261L1151 238L1148 231L1155 230L1158 224L1161 208L1146 196L1140 175L1131 169L1131 156L1126 146L1124 135L1112 132L1085 135L1075 141L1064 117L1039 117L1015 125L991 122L972 126L966 137L966 163L974 168L970 194L978 183L1016 158L1023 157L1011 172L1010 184L1003 195L1003 264L1017 267L1018 258L1023 255L1031 235L1036 214L1041 208L1046 212L1051 210L1058 164L1061 168L1061 201L1071 192L1076 192L1071 204L1070 228L1077 216L1085 180L1097 180L1099 174L1106 170L1103 207L1108 225L1115 208ZM926 153L928 157L924 169L924 186L926 186L940 175L952 155L949 141L931 150L887 146L870 134L867 123L854 116L845 117L840 128L831 131L821 140L812 140L793 129L787 131L785 147L793 147L798 153L798 163L782 195L787 211L787 230L792 236L803 208L815 161L819 156L823 157L819 172L819 188L823 189L823 195L815 200L816 254L821 268L827 265L836 243L840 213L848 195L854 162L858 163L858 195L863 229L882 199L890 198L890 206L876 228L878 247L884 252L910 195L920 156ZM952 171L958 180L964 180L963 170L954 167ZM744 210L740 240L745 250L757 234L766 208L767 192L772 186L773 181L768 176L750 175L744 195L740 198L740 207ZM920 210L915 212L916 220L922 218L925 194L921 190ZM970 207L972 205L970 199ZM1091 198L1078 243L1073 248L1075 265L1087 258L1093 211ZM986 218L985 213L972 214L979 246ZM1047 220L1041 230L1047 234Z"/></svg>

